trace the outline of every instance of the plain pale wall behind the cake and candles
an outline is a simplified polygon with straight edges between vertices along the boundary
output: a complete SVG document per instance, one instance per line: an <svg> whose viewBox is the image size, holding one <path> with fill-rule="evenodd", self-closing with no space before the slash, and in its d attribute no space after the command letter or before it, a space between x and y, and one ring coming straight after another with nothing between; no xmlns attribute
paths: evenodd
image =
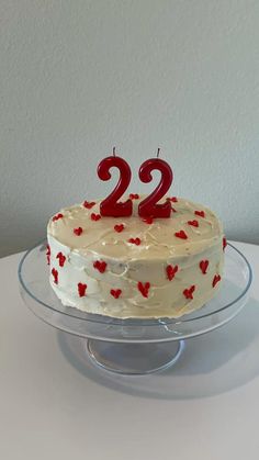
<svg viewBox="0 0 259 460"><path fill-rule="evenodd" d="M2 256L42 238L60 206L105 195L95 167L114 144L134 170L160 146L173 194L259 243L258 1L0 8Z"/></svg>

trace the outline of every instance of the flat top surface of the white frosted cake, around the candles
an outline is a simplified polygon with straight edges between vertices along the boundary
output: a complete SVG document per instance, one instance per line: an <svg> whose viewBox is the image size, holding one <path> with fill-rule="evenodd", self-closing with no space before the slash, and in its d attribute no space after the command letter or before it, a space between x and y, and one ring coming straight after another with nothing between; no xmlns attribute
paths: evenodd
<svg viewBox="0 0 259 460"><path fill-rule="evenodd" d="M204 205L172 197L168 198L171 217L142 220L137 206L145 197L131 198L130 217L102 217L100 200L85 201L60 210L50 218L47 233L81 255L92 253L122 260L189 256L213 246L223 236L221 222Z"/></svg>

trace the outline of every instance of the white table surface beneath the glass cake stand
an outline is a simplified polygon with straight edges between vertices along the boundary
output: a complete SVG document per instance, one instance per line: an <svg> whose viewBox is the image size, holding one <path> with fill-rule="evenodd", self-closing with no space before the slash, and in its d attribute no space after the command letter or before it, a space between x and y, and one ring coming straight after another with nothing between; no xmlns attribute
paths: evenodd
<svg viewBox="0 0 259 460"><path fill-rule="evenodd" d="M20 255L0 259L0 459L258 460L259 246L229 324L188 340L174 368L120 377L77 361L67 334L19 294Z"/></svg>

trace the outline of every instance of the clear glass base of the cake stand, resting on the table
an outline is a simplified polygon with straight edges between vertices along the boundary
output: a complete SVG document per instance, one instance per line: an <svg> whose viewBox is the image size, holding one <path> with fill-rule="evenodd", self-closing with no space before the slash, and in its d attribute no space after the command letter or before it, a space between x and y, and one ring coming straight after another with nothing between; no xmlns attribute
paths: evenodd
<svg viewBox="0 0 259 460"><path fill-rule="evenodd" d="M87 351L94 364L121 374L140 375L174 364L184 349L184 340L156 344L121 344L87 340Z"/></svg>

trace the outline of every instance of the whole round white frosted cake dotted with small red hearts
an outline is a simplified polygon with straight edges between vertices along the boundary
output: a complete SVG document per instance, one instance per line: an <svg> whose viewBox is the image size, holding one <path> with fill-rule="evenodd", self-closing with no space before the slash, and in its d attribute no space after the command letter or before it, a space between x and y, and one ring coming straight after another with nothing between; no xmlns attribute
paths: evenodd
<svg viewBox="0 0 259 460"><path fill-rule="evenodd" d="M131 198L130 217L102 217L100 201L86 201L50 218L47 260L56 295L64 305L119 318L179 317L202 307L222 280L221 222L180 198L168 198L169 218L142 220L140 197Z"/></svg>

